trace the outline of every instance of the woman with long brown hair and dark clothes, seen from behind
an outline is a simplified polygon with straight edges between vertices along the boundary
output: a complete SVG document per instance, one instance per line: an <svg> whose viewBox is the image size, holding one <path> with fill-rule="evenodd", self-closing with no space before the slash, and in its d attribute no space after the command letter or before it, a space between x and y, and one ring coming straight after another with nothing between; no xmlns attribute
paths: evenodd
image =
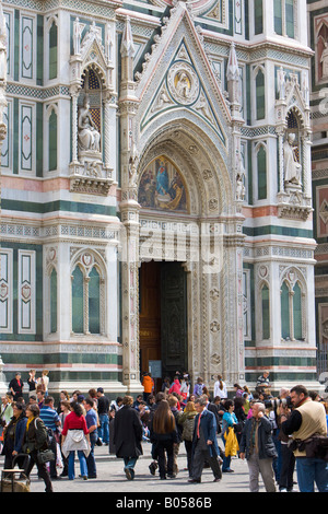
<svg viewBox="0 0 328 514"><path fill-rule="evenodd" d="M167 457L167 477L175 478L173 472L174 443L178 442L178 432L167 400L161 400L154 411L150 427L150 440L156 448L161 480L166 479L165 453Z"/></svg>

